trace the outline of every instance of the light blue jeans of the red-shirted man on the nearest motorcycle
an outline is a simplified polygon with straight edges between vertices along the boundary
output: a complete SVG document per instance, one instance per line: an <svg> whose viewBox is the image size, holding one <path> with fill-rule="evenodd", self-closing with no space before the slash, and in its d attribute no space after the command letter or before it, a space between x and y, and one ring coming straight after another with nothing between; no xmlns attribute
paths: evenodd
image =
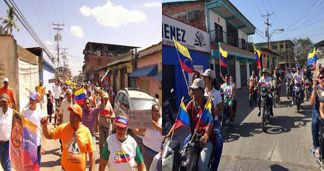
<svg viewBox="0 0 324 171"><path fill-rule="evenodd" d="M184 140L183 145L185 146L191 139L191 134L187 136ZM223 144L222 144L223 146ZM213 152L214 146L209 141L205 147L200 149L200 154L198 156L197 168L198 170L209 170L208 164Z"/></svg>

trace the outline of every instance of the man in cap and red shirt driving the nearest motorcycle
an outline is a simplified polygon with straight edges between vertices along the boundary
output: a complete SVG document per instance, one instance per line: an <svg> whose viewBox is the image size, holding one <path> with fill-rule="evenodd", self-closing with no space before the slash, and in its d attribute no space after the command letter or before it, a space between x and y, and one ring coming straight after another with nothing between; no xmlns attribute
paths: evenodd
<svg viewBox="0 0 324 171"><path fill-rule="evenodd" d="M204 96L205 94L205 86L204 81L196 78L192 85L189 87L192 89L192 100L188 103L186 109L189 115L190 120L190 130L191 133L194 132L196 125L198 124L199 118L201 114L203 114L205 105L207 104L208 99ZM211 109L212 115L215 115L214 104L212 103ZM170 129L169 133L165 136L165 138L170 138L171 134L174 130L175 124ZM211 122L209 125L204 123L200 123L198 126L197 134L201 134L200 142L200 157L198 158L197 170L208 170L208 163L211 157L211 154L214 149L215 143L215 132L213 131L214 123ZM190 140L191 134L187 137L186 142Z"/></svg>

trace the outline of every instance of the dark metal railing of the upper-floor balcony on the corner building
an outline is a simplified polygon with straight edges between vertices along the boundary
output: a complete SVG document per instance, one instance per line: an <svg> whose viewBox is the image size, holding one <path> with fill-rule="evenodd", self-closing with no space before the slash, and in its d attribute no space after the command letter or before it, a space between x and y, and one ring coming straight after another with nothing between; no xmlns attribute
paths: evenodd
<svg viewBox="0 0 324 171"><path fill-rule="evenodd" d="M254 52L253 45L247 43L244 40L235 38L233 35L227 34L227 32L212 30L210 31L211 43L222 42L240 49L247 50L249 52Z"/></svg>

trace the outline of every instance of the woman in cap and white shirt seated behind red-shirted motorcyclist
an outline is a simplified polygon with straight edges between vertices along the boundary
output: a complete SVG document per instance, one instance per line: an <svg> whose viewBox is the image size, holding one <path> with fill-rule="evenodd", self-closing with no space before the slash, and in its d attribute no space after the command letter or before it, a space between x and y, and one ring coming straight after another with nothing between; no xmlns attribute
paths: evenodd
<svg viewBox="0 0 324 171"><path fill-rule="evenodd" d="M205 96L209 97L212 95L213 105L215 107L215 118L214 118L214 131L215 131L215 160L214 170L217 170L219 161L221 159L223 150L223 138L221 135L221 127L218 122L218 116L223 114L223 101L218 90L215 89L217 81L213 70L207 69L205 73L200 74L203 77L205 84Z"/></svg>

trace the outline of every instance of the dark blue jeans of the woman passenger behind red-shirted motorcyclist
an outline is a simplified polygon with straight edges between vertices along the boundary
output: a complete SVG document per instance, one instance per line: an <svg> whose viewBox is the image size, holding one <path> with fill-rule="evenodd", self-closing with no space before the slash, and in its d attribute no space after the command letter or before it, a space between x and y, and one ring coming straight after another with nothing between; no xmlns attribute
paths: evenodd
<svg viewBox="0 0 324 171"><path fill-rule="evenodd" d="M217 170L219 161L221 160L223 151L223 138L221 135L221 125L218 121L214 121L214 131L215 131L215 154L214 154L214 170Z"/></svg>

